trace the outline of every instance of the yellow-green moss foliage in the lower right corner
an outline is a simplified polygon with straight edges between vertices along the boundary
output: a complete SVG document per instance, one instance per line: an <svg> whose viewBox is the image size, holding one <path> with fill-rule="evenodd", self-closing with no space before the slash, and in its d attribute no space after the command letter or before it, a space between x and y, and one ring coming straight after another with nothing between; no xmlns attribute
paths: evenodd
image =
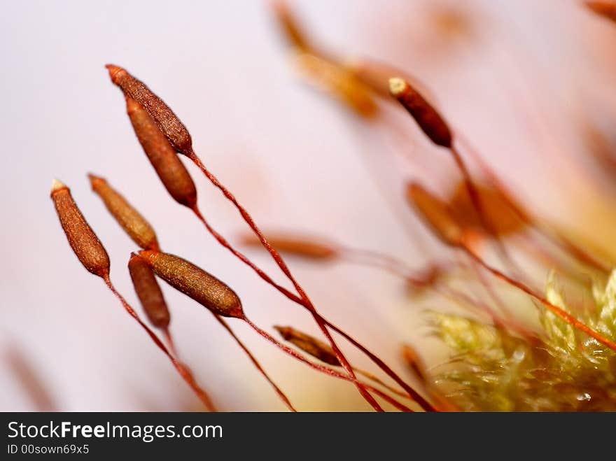
<svg viewBox="0 0 616 461"><path fill-rule="evenodd" d="M570 312L552 274L549 302L616 340L616 271L595 285L596 308ZM433 313L431 323L454 357L436 385L471 411L616 411L616 353L539 306L542 331L521 337L459 315Z"/></svg>

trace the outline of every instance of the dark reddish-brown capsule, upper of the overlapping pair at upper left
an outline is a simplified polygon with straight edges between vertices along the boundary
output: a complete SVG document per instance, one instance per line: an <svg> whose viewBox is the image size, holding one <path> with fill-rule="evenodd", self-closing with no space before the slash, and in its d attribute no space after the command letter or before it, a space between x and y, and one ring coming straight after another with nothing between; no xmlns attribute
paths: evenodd
<svg viewBox="0 0 616 461"><path fill-rule="evenodd" d="M141 80L137 80L125 69L113 64L106 65L111 81L120 87L126 97L130 97L144 106L158 128L173 148L181 154L193 153L193 140L177 115L154 94Z"/></svg>

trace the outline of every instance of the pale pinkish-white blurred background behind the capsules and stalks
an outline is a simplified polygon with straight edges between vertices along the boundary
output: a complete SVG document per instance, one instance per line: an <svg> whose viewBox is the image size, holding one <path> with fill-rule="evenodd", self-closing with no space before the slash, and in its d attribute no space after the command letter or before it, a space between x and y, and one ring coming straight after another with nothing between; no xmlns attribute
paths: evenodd
<svg viewBox="0 0 616 461"><path fill-rule="evenodd" d="M288 3L332 53L372 57L419 78L533 213L587 248L616 253L616 27L607 20L574 0ZM406 208L402 186L419 178L447 194L457 181L449 157L406 118L396 126L407 130L407 144L315 91L290 61L268 2L2 6L0 410L36 409L16 372L25 363L57 409L200 409L165 357L71 253L49 199L52 178L71 187L109 252L111 278L135 306L126 270L134 244L90 191L88 172L125 194L165 250L231 285L259 325L317 332L304 311L169 199L104 64L124 66L165 99L209 169L262 228L325 236L418 268L440 255ZM405 162L406 155L414 161ZM202 211L237 241L244 222L187 165ZM248 255L286 282L265 254ZM344 264L289 262L321 313L402 374L401 343L420 346L430 362L441 357L398 279ZM168 288L181 356L218 406L283 410L211 315ZM298 409L368 408L351 385L316 375L231 324Z"/></svg>

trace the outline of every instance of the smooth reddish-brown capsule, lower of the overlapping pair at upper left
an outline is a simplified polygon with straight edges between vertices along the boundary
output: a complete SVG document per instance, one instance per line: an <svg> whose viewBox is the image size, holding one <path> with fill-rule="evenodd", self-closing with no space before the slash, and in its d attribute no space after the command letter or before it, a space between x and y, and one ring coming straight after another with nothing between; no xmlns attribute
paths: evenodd
<svg viewBox="0 0 616 461"><path fill-rule="evenodd" d="M179 204L193 208L197 204L197 189L174 148L139 102L127 97L126 111L141 147L167 192Z"/></svg>

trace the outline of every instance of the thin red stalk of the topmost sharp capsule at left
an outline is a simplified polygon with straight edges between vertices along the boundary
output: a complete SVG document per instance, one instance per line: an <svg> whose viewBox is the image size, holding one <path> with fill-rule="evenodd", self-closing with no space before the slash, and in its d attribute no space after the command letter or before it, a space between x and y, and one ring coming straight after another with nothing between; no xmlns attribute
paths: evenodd
<svg viewBox="0 0 616 461"><path fill-rule="evenodd" d="M351 378L355 378L355 374L353 373L353 368L351 367L351 364L349 363L349 360L346 359L346 357L342 353L342 350L339 349L339 347L337 346L336 342L334 341L332 335L328 331L327 327L325 327L325 323L321 319L320 315L318 315L318 312L316 311L316 308L314 307L314 305L310 301L310 298L308 297L306 292L304 292L304 290L300 286L300 284L297 283L297 281L295 281L295 277L293 277L293 274L291 274L290 270L288 269L288 267L286 265L286 262L284 262L284 260L282 259L281 255L279 255L279 253L276 251L276 249L273 248L267 242L267 239L265 239L265 236L262 234L260 229L257 227L255 222L253 221L253 218L251 217L251 215L248 214L248 211L246 211L246 209L243 206L241 206L241 204L239 204L239 202L237 201L235 196L231 192L229 192L229 190L218 181L218 178L216 178L216 176L214 176L214 174L210 173L210 171L205 167L205 165L203 164L201 159L199 157L197 157L197 154L195 154L194 152L191 152L190 155L188 155L188 157L193 161L193 163L195 163L195 165L197 165L199 167L199 169L210 180L210 182L215 187L217 187L218 190L221 190L221 192L224 194L224 196L229 201L231 201L231 203L235 206L235 208L237 208L237 210L241 214L241 217L244 218L244 221L246 221L246 224L248 224L248 226L251 227L251 229L253 230L255 235L258 236L258 238L261 241L262 245L269 252L269 254L272 255L272 258L274 259L274 261L276 262L278 267L281 269L283 274L285 274L287 276L287 278L289 279L289 281L291 283L293 283L293 286L295 287L295 290L297 290L297 294L300 295L300 298L302 299L302 305L311 312L315 322L317 323L318 327L321 329L321 332L323 332L323 334L325 335L325 338L330 343L330 346L332 346L332 349L334 350L334 353L335 353L336 357L340 361L340 364L342 364L342 367L344 367L344 369L349 374L349 376L351 376ZM242 260L242 261L244 261L244 260ZM244 261L244 262L246 262L246 261ZM254 269L254 267L253 267L253 269ZM377 410L377 411L381 411L382 410L381 406L379 406L379 404L374 399L374 397L372 397L372 395L370 395L370 393L368 393L367 390L365 390L365 388L363 387L363 385L361 383L356 383L356 386L357 386L360 394L363 395L364 399L368 403L370 403L370 405L372 405L372 407L375 410Z"/></svg>

